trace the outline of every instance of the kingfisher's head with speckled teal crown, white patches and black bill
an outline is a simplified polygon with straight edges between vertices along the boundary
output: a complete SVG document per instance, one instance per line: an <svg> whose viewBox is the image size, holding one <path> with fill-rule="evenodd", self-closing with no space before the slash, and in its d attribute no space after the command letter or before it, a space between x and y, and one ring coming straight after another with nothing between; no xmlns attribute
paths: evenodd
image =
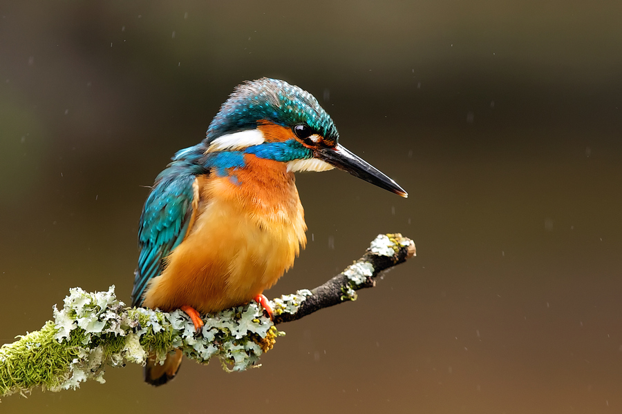
<svg viewBox="0 0 622 414"><path fill-rule="evenodd" d="M393 179L339 144L332 119L309 92L262 78L238 86L211 121L205 154L221 171L244 166L254 155L287 164L288 171L334 167L407 197Z"/></svg>

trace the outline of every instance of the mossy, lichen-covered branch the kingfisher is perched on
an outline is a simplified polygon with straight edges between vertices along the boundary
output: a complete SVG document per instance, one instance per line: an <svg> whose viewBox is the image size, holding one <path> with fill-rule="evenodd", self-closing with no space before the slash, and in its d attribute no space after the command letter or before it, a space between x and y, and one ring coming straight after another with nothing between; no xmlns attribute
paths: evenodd
<svg viewBox="0 0 622 414"><path fill-rule="evenodd" d="M357 298L356 290L375 286L383 271L415 255L415 244L400 234L379 235L357 262L313 290L274 299L274 320L251 302L203 317L198 334L182 311L164 313L126 308L107 292L70 289L64 307L54 306L54 321L0 348L0 396L32 388L79 388L88 379L105 382L104 368L127 362L144 364L148 354L164 361L175 348L202 364L218 357L227 371L258 366L262 353L284 335L275 325Z"/></svg>

